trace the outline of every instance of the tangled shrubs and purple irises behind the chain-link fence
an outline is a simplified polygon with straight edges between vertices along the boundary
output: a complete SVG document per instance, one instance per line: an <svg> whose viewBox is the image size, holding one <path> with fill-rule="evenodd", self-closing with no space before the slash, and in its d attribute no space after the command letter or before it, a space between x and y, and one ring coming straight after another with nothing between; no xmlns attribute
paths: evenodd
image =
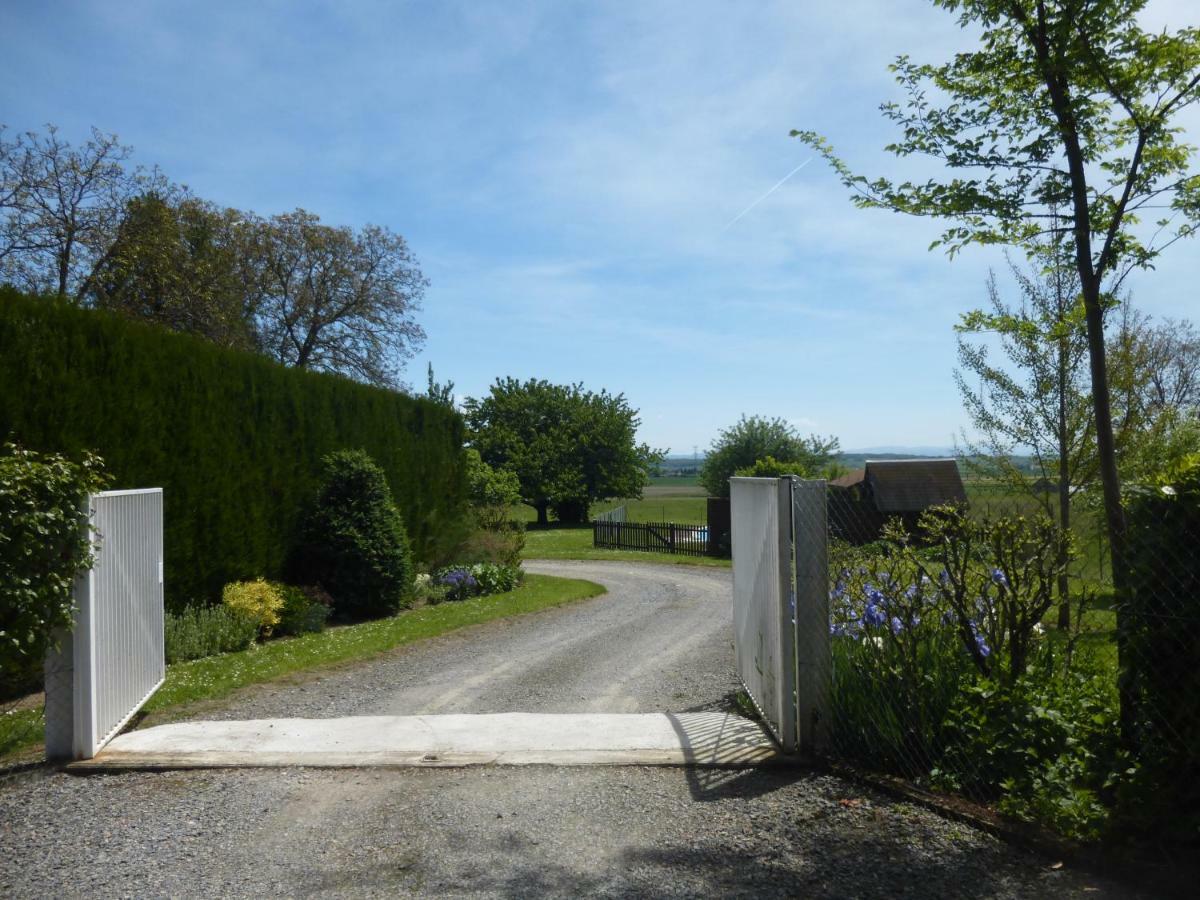
<svg viewBox="0 0 1200 900"><path fill-rule="evenodd" d="M1073 636L1042 625L1068 539L1049 521L956 509L919 528L920 545L893 522L875 545L830 548L835 746L1093 835L1116 698L1111 673L1082 676Z"/></svg>

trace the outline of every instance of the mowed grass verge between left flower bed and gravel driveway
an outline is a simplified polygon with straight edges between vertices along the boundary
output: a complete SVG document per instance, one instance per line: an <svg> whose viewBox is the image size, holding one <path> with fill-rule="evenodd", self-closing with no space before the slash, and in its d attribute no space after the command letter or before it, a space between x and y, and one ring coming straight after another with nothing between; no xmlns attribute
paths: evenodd
<svg viewBox="0 0 1200 900"><path fill-rule="evenodd" d="M170 721L186 715L197 703L220 700L240 688L370 659L468 625L563 606L602 593L605 589L595 582L527 574L521 587L504 594L424 606L386 619L269 641L241 653L176 662L167 667L167 680L143 707L143 721ZM6 756L22 756L20 751L31 750L42 739L41 709L20 709L0 716L0 762L12 761L5 760Z"/></svg>

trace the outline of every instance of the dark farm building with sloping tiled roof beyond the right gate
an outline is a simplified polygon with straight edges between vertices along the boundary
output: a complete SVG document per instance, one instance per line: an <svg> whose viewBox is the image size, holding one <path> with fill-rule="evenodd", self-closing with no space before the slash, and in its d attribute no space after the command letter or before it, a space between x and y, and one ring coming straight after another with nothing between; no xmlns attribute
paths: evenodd
<svg viewBox="0 0 1200 900"><path fill-rule="evenodd" d="M868 460L829 482L829 533L851 544L877 540L893 517L913 532L930 506L967 502L954 460Z"/></svg>

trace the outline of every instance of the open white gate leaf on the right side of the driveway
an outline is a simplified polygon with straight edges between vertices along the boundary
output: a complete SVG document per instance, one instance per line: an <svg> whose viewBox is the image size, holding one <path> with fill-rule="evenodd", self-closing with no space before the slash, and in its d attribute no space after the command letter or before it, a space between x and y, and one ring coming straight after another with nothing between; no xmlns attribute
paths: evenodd
<svg viewBox="0 0 1200 900"><path fill-rule="evenodd" d="M784 750L796 734L792 494L788 479L730 479L738 676Z"/></svg>

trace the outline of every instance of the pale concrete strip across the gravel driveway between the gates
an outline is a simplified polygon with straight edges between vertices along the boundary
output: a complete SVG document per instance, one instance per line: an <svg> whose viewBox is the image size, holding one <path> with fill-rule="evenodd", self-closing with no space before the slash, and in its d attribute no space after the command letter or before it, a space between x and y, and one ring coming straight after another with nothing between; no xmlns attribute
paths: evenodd
<svg viewBox="0 0 1200 900"><path fill-rule="evenodd" d="M728 713L493 713L178 722L121 734L95 760L72 768L739 768L786 758L756 722Z"/></svg>

